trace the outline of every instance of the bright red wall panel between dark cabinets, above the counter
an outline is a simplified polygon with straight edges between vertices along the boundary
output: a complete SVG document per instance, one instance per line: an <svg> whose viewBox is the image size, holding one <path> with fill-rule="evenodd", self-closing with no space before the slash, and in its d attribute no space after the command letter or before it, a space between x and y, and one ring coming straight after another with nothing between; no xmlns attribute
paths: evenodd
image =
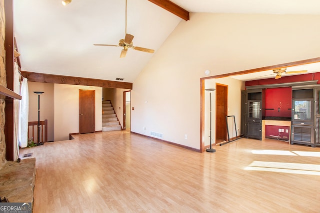
<svg viewBox="0 0 320 213"><path fill-rule="evenodd" d="M265 116L291 117L291 87L265 89Z"/></svg>

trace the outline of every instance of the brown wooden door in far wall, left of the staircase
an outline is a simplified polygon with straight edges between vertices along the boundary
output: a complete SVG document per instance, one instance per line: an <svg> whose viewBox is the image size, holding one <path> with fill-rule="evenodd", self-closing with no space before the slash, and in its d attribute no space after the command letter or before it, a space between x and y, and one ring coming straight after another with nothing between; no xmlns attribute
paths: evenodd
<svg viewBox="0 0 320 213"><path fill-rule="evenodd" d="M79 89L79 133L95 131L95 90Z"/></svg>

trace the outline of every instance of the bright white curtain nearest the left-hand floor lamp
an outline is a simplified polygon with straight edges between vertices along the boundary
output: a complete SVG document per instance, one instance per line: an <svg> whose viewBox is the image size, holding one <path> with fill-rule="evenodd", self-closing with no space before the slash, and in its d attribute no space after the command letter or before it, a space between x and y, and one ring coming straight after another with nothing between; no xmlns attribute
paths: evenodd
<svg viewBox="0 0 320 213"><path fill-rule="evenodd" d="M29 114L29 93L27 79L23 78L21 83L22 99L20 100L19 116L19 146L24 148L28 145L28 114Z"/></svg>

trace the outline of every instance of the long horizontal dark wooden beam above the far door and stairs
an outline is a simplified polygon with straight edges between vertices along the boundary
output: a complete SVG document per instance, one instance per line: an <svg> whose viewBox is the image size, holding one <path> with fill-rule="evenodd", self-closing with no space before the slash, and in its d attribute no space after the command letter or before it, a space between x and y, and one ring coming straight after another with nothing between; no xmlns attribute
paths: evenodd
<svg viewBox="0 0 320 213"><path fill-rule="evenodd" d="M100 80L93 78L80 78L65 75L52 75L36 72L21 71L21 75L32 82L70 84L82 86L98 86L106 88L132 89L132 83Z"/></svg>

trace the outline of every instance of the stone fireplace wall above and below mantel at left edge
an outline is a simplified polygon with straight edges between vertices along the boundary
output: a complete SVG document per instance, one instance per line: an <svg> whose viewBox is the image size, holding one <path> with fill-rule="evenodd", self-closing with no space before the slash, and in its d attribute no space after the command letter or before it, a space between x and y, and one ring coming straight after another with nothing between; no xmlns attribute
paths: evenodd
<svg viewBox="0 0 320 213"><path fill-rule="evenodd" d="M5 37L5 17L4 17L4 0L0 0L0 85L6 87L6 74L5 74L5 50L4 50L4 37ZM4 106L5 97L0 95L0 169L5 163L5 137L4 137Z"/></svg>

